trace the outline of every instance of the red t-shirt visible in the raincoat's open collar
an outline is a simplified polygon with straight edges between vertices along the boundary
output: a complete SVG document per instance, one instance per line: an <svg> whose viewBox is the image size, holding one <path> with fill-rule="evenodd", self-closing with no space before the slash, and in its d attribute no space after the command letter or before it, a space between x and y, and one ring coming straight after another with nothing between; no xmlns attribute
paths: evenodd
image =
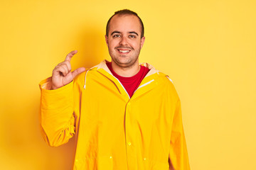
<svg viewBox="0 0 256 170"><path fill-rule="evenodd" d="M114 70L112 69L111 62L107 62L106 64L107 67L110 69L110 72L112 72L113 76L119 79L119 81L122 83L124 89L126 89L130 98L134 94L134 91L136 91L136 89L139 87L139 84L142 82L142 79L144 79L146 74L149 72L149 69L147 67L140 65L139 72L135 74L133 77L121 77L114 72Z"/></svg>

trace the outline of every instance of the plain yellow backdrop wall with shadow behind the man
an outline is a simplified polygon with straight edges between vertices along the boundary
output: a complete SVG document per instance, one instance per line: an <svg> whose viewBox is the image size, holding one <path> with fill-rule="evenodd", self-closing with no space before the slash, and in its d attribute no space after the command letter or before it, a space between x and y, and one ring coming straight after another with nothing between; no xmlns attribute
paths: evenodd
<svg viewBox="0 0 256 170"><path fill-rule="evenodd" d="M129 8L144 21L140 62L181 98L193 170L256 169L256 1L1 1L0 169L71 169L71 140L48 147L38 83L78 50L73 68L110 60L105 25Z"/></svg>

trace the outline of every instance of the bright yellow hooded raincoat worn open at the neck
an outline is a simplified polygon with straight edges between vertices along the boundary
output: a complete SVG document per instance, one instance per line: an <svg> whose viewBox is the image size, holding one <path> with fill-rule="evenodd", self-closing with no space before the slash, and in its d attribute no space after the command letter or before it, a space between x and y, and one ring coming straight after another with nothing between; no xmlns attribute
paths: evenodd
<svg viewBox="0 0 256 170"><path fill-rule="evenodd" d="M181 103L169 77L151 69L129 98L101 62L60 89L41 81L41 128L48 145L75 135L73 169L187 170Z"/></svg>

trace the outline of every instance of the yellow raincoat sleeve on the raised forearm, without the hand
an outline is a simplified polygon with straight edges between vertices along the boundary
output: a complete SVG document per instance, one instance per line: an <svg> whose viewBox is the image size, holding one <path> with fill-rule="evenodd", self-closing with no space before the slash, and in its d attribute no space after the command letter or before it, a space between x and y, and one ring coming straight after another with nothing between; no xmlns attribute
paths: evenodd
<svg viewBox="0 0 256 170"><path fill-rule="evenodd" d="M51 77L41 81L41 132L51 147L63 145L75 134L73 81L59 89L50 88Z"/></svg>

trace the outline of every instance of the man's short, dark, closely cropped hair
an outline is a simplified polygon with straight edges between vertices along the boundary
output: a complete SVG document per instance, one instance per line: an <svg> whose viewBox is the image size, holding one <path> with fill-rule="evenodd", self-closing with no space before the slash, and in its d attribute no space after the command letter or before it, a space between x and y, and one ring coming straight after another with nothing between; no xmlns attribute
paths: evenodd
<svg viewBox="0 0 256 170"><path fill-rule="evenodd" d="M113 16L116 16L116 15L120 15L120 16L123 16L123 15L132 15L132 16L137 16L137 17L139 18L138 14L137 14L136 12L131 11L131 10L129 10L129 9L122 9L122 10L120 10L120 11L115 11L115 12L114 12L114 15L112 15L112 16L110 17L109 21L107 21L107 27L106 27L106 35L107 35L107 36L108 36L109 31L110 31L110 21L111 21L111 19L113 18ZM141 18L139 18L139 23L141 23L141 26L142 26L141 38L143 38L143 37L144 37L144 25L143 25L143 23L142 23L142 19L141 19Z"/></svg>

